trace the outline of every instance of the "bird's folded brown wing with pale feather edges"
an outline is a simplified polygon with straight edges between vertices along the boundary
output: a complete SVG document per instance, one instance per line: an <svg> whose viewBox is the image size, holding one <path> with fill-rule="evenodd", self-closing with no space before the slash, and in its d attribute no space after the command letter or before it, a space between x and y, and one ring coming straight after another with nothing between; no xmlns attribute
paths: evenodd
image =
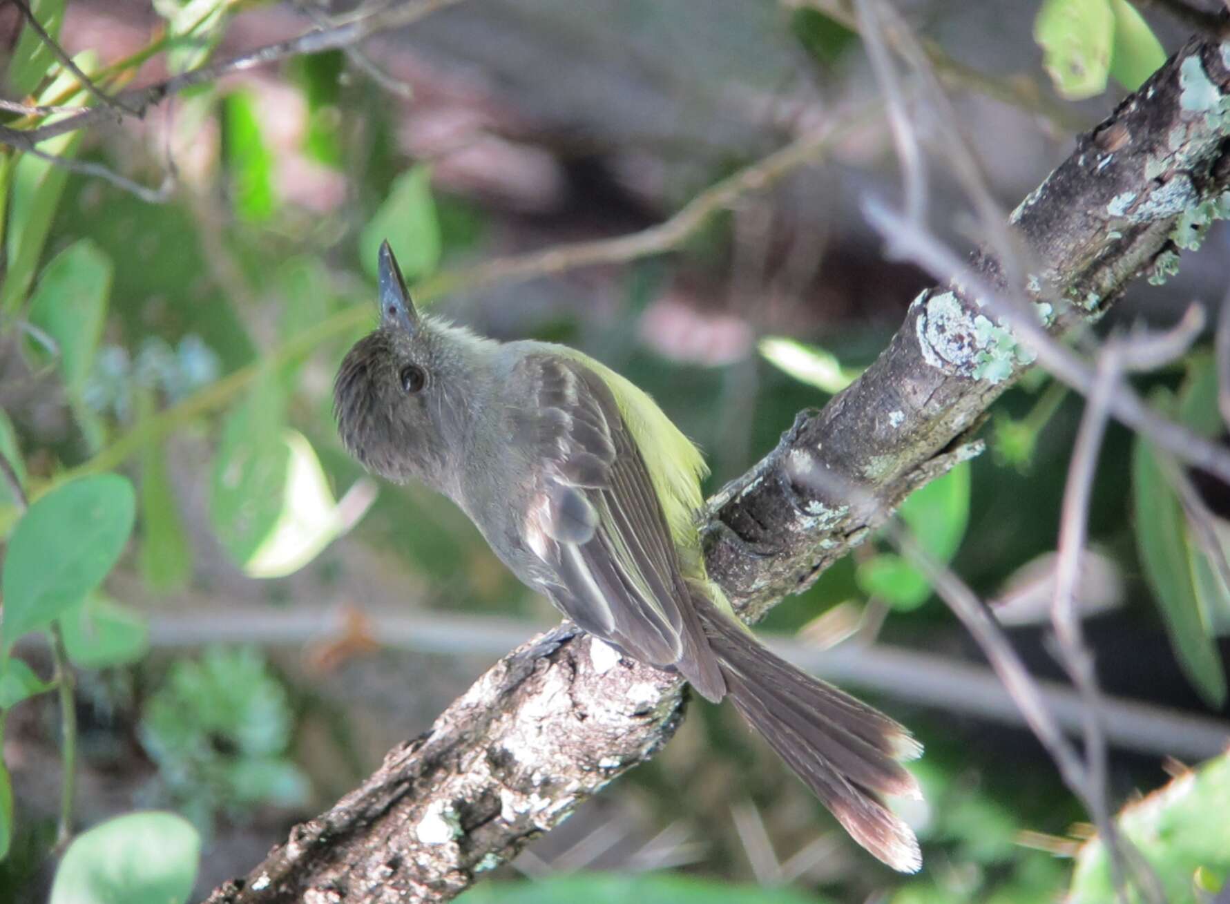
<svg viewBox="0 0 1230 904"><path fill-rule="evenodd" d="M510 412L512 429L544 465L523 536L555 574L552 599L590 633L721 699L724 681L661 501L611 390L562 355L530 354L517 369L514 381L530 391Z"/></svg>

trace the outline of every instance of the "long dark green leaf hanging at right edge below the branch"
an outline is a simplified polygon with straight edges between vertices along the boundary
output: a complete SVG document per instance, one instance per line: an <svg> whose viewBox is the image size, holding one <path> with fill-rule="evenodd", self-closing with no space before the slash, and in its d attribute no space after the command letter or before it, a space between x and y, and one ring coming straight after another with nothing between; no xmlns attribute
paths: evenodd
<svg viewBox="0 0 1230 904"><path fill-rule="evenodd" d="M1156 453L1141 439L1133 449L1132 477L1137 547L1171 647L1200 696L1220 708L1226 699L1225 670L1192 585L1182 507Z"/></svg>

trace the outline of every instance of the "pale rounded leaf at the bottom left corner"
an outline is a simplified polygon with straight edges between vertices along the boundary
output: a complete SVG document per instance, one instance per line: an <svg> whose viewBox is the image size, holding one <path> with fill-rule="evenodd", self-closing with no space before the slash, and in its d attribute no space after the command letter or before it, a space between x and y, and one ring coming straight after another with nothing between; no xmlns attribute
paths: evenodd
<svg viewBox="0 0 1230 904"><path fill-rule="evenodd" d="M49 904L182 904L199 857L200 836L182 817L116 817L69 845Z"/></svg>

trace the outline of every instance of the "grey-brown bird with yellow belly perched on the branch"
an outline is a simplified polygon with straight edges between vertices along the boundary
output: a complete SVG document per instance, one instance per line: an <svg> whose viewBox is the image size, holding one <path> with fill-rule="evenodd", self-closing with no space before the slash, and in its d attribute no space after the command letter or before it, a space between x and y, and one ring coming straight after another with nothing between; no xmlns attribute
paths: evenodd
<svg viewBox="0 0 1230 904"><path fill-rule="evenodd" d="M910 732L760 643L706 574L700 450L641 389L567 346L421 314L389 242L379 325L333 385L347 451L450 498L496 556L581 630L729 699L850 836L900 872L918 840L886 797L921 798Z"/></svg>

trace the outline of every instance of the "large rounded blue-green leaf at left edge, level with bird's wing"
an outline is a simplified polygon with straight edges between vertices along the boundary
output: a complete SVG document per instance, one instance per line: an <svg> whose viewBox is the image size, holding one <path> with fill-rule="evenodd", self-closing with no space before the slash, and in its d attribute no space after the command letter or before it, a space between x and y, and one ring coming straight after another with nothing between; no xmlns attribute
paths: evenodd
<svg viewBox="0 0 1230 904"><path fill-rule="evenodd" d="M116 474L70 481L30 507L9 540L0 578L5 649L102 583L128 542L135 508L133 485Z"/></svg>

